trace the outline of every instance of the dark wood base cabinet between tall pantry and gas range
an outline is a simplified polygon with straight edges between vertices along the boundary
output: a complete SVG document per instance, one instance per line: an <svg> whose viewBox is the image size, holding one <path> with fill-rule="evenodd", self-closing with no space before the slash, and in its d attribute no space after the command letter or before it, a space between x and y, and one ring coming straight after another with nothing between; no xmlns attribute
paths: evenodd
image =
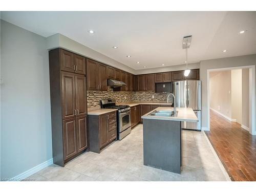
<svg viewBox="0 0 256 192"><path fill-rule="evenodd" d="M105 146L117 139L116 118L116 112L88 116L91 152L100 153Z"/></svg>

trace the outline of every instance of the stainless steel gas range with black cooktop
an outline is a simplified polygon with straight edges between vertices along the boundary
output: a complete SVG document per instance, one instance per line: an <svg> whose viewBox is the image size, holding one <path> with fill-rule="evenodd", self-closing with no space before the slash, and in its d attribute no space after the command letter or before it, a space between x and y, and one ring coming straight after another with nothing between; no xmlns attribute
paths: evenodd
<svg viewBox="0 0 256 192"><path fill-rule="evenodd" d="M117 131L119 140L123 139L126 135L131 133L131 108L129 105L116 105L116 100L109 98L101 100L101 108L118 109Z"/></svg>

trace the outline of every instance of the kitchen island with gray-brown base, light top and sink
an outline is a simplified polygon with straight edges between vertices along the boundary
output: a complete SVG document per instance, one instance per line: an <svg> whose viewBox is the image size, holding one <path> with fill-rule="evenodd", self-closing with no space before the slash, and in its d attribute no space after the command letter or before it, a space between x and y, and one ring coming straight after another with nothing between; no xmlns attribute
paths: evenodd
<svg viewBox="0 0 256 192"><path fill-rule="evenodd" d="M198 122L191 108L159 107L143 115L143 163L147 166L181 173L181 121ZM168 115L169 114L169 115Z"/></svg>

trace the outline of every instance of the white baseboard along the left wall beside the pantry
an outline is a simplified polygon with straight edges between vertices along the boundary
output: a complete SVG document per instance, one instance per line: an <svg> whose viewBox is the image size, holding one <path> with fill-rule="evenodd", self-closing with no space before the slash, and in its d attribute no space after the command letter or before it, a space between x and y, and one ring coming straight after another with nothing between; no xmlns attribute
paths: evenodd
<svg viewBox="0 0 256 192"><path fill-rule="evenodd" d="M12 179L10 179L10 181L21 181L37 172L39 172L39 170L48 167L49 165L53 164L53 159L49 159L48 161L45 161L39 165L34 166L33 168L26 170L26 172L23 172L22 174L19 174L15 177L13 177Z"/></svg>

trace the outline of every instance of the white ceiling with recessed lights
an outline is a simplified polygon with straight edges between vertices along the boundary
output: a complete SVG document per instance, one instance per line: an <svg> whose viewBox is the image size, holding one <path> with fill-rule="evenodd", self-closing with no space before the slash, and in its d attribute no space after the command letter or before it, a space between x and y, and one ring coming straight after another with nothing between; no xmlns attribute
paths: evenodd
<svg viewBox="0 0 256 192"><path fill-rule="evenodd" d="M183 65L186 35L193 35L189 63L256 53L256 12L1 12L1 18L44 37L61 33L136 70Z"/></svg>

